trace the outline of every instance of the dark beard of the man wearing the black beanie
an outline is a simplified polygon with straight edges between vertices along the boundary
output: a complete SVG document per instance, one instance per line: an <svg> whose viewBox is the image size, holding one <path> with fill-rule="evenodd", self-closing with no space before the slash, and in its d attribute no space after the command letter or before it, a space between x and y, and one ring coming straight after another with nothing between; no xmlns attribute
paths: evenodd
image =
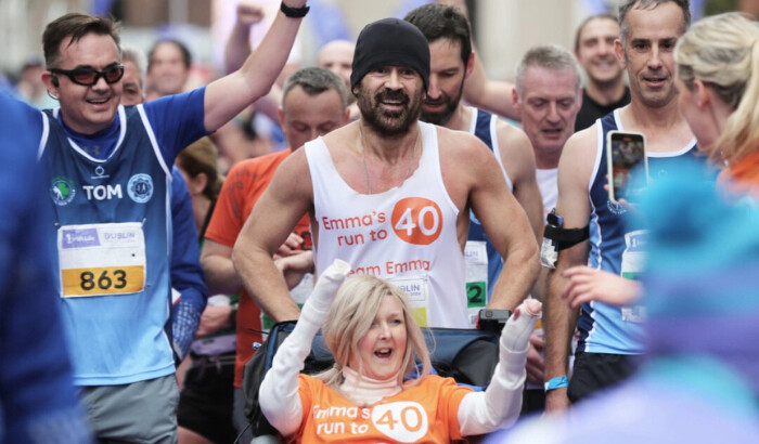
<svg viewBox="0 0 759 444"><path fill-rule="evenodd" d="M400 101L402 108L397 112L382 109L384 100ZM419 119L422 110L423 90L420 89L410 99L400 90L383 90L374 95L374 100L359 84L358 105L361 116L380 134L395 138L407 134L411 125Z"/></svg>

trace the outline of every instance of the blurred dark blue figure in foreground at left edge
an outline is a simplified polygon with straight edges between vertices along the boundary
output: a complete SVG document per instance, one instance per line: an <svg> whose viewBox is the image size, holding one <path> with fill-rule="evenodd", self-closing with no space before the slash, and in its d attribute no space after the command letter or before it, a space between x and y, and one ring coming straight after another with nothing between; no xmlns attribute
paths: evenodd
<svg viewBox="0 0 759 444"><path fill-rule="evenodd" d="M34 123L0 93L0 443L90 443L74 389L46 243L49 208Z"/></svg>

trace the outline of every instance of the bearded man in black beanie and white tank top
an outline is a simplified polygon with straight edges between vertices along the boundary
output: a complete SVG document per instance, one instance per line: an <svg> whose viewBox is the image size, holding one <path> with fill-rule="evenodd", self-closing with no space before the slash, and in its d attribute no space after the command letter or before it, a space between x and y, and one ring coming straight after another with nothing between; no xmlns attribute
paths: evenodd
<svg viewBox="0 0 759 444"><path fill-rule="evenodd" d="M471 328L467 308L485 308L484 286L465 284L469 209L505 259L488 308L513 310L527 296L540 266L527 216L483 142L419 121L428 78L429 45L415 26L363 28L350 77L361 119L292 154L234 246L235 269L275 322L299 315L272 257L305 213L317 273L339 258L389 279L423 326Z"/></svg>

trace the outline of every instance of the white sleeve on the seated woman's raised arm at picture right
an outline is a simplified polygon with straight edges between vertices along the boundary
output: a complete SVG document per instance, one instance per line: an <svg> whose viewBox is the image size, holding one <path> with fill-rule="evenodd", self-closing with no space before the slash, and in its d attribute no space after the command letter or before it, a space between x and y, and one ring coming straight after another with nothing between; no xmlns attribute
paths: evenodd
<svg viewBox="0 0 759 444"><path fill-rule="evenodd" d="M514 321L512 315L501 332L500 360L490 384L485 392L468 393L461 400L458 418L464 436L509 427L519 416L529 337L540 317L526 310L526 302L519 310L519 318Z"/></svg>

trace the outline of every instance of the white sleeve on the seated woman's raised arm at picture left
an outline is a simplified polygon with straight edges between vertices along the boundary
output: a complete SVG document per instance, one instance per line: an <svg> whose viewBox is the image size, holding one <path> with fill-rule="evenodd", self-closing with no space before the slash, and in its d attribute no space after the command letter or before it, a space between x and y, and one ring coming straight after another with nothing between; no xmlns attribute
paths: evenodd
<svg viewBox="0 0 759 444"><path fill-rule="evenodd" d="M280 345L271 369L259 388L261 412L283 436L295 433L300 427L303 407L298 395L298 374L311 350L311 341L326 318L330 304L349 271L350 265L338 259L319 276L298 323Z"/></svg>

